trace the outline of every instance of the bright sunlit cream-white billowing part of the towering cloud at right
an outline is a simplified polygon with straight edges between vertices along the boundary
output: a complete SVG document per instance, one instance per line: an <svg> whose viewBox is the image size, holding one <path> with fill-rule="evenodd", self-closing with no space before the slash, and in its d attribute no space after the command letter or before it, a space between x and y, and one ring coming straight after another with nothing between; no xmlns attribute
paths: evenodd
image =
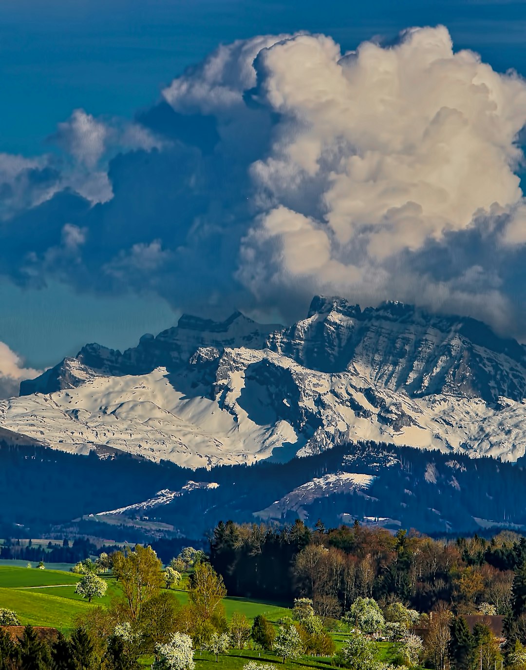
<svg viewBox="0 0 526 670"><path fill-rule="evenodd" d="M310 273L329 291L406 299L418 277L398 266L392 275L393 259L497 210L509 212L508 243L526 241L513 172L526 82L455 53L446 28L343 57L330 38L301 35L261 52L256 69L258 100L281 119L270 155L252 165L256 202L268 209L242 249L238 277L252 291ZM291 226L294 210L308 224Z"/></svg>

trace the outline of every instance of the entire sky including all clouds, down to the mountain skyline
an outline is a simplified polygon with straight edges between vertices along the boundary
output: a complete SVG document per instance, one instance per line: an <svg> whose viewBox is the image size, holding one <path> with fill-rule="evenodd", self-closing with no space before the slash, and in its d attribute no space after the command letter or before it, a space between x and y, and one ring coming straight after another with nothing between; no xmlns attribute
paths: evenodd
<svg viewBox="0 0 526 670"><path fill-rule="evenodd" d="M505 0L3 0L0 378L317 292L525 341L525 29Z"/></svg>

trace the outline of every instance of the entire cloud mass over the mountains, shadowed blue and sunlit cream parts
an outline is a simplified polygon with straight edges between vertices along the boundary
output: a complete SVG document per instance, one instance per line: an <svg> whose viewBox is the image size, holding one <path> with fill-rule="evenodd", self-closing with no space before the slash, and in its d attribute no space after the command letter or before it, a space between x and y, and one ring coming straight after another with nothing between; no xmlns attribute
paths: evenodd
<svg viewBox="0 0 526 670"><path fill-rule="evenodd" d="M61 124L56 183L0 228L2 271L284 320L317 292L400 299L526 338L525 122L526 82L445 27L347 54L323 35L240 40L132 121ZM50 165L24 160L6 183Z"/></svg>

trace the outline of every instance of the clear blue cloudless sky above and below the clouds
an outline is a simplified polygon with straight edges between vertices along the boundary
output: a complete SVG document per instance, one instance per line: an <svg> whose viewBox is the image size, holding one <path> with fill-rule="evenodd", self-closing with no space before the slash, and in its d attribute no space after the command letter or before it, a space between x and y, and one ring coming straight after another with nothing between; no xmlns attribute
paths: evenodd
<svg viewBox="0 0 526 670"><path fill-rule="evenodd" d="M455 49L499 72L526 74L526 3L485 0L3 0L0 4L0 152L58 151L49 138L74 109L133 119L217 44L306 30L342 50L413 25L443 23ZM8 224L3 224L8 225ZM18 282L19 283L19 282ZM0 279L0 340L31 366L52 364L86 341L130 346L179 314L158 291L90 290L55 279L38 288Z"/></svg>

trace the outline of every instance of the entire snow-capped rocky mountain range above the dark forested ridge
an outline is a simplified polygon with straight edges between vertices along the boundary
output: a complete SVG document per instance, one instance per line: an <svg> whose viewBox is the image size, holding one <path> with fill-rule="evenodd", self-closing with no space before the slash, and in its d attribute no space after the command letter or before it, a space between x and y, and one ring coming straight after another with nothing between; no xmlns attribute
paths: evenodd
<svg viewBox="0 0 526 670"><path fill-rule="evenodd" d="M196 468L286 461L370 440L517 460L526 350L468 318L315 297L290 328L189 316L139 345L82 348L0 403L54 448Z"/></svg>

